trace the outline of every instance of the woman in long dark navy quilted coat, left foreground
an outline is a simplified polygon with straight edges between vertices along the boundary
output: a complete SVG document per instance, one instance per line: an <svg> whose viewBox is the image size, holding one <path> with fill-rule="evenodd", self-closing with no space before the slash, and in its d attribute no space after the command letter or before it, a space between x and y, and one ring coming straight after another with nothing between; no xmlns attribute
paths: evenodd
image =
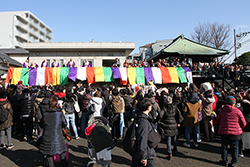
<svg viewBox="0 0 250 167"><path fill-rule="evenodd" d="M65 154L67 147L62 133L62 128L67 126L67 122L63 112L59 109L57 97L50 98L49 109L43 113L41 126L44 132L39 151L46 158L48 166L54 166L53 156L56 154L60 155L61 165L68 166Z"/></svg>

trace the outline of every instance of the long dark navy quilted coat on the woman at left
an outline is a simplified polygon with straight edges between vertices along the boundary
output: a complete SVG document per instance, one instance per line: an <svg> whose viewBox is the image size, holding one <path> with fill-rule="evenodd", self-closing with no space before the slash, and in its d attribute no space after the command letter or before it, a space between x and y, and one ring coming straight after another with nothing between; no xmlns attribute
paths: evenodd
<svg viewBox="0 0 250 167"><path fill-rule="evenodd" d="M62 127L67 122L61 110L48 109L43 113L42 128L44 128L40 152L44 155L62 154L67 151L62 133Z"/></svg>

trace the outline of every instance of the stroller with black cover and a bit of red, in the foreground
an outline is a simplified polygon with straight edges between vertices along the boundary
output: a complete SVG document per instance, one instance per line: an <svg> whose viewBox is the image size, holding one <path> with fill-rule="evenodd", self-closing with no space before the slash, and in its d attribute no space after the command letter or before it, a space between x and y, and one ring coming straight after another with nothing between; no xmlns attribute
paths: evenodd
<svg viewBox="0 0 250 167"><path fill-rule="evenodd" d="M109 121L101 116L92 117L85 130L88 141L87 167L97 163L105 167L111 164L111 149L114 146Z"/></svg>

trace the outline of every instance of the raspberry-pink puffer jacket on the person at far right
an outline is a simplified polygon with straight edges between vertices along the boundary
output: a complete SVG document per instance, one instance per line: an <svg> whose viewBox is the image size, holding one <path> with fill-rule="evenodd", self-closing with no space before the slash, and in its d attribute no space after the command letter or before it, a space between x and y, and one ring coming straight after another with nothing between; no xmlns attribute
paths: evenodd
<svg viewBox="0 0 250 167"><path fill-rule="evenodd" d="M242 112L228 104L221 108L218 121L220 135L240 135L243 133L242 128L247 124Z"/></svg>

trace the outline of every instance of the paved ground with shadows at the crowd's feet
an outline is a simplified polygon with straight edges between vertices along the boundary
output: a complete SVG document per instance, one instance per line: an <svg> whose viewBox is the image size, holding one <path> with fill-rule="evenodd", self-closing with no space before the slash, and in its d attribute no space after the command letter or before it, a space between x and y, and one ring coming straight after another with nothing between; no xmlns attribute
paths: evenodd
<svg viewBox="0 0 250 167"><path fill-rule="evenodd" d="M7 167L36 167L42 164L42 155L38 153L38 149L27 142L13 139L15 147L11 150L0 150L0 166ZM198 148L192 143L190 148L183 147L184 139L179 139L178 154L171 161L166 157L166 145L160 143L157 148L156 167L166 166L219 166L217 162L220 160L220 140L213 142L201 142ZM116 147L112 149L112 167L130 166L131 157L125 153L120 147L120 143L116 143ZM69 166L85 167L89 161L87 155L87 141L84 138L72 140L69 142ZM229 157L229 160L231 158ZM238 166L249 166L250 155L238 159ZM60 165L59 165L60 166ZM94 165L97 166L97 165Z"/></svg>

